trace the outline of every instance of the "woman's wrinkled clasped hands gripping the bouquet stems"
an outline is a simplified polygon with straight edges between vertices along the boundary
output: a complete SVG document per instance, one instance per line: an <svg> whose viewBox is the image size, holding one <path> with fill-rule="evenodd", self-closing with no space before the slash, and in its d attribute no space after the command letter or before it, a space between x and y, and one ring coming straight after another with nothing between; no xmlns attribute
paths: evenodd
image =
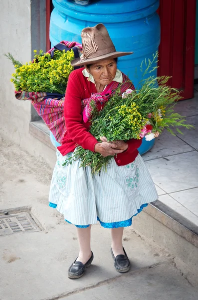
<svg viewBox="0 0 198 300"><path fill-rule="evenodd" d="M116 147L117 144L114 142L102 141L95 144L94 151L99 152L104 157L109 155L115 155L117 153L122 153L124 151L123 149L119 149Z"/></svg>

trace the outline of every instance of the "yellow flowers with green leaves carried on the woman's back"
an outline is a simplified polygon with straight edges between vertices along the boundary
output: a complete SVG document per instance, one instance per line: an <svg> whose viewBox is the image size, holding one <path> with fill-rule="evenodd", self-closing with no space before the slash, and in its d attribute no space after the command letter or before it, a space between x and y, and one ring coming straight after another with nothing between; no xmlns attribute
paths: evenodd
<svg viewBox="0 0 198 300"><path fill-rule="evenodd" d="M74 59L73 50L56 50L53 57L42 50L38 54L36 50L34 52L34 59L25 64L16 61L10 53L6 55L14 63L11 81L15 90L64 94L68 76L73 70L70 64Z"/></svg>

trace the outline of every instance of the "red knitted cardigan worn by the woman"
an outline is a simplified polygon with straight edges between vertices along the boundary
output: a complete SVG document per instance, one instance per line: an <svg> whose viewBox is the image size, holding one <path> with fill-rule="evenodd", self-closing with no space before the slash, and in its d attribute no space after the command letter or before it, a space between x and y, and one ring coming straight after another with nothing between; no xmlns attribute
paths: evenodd
<svg viewBox="0 0 198 300"><path fill-rule="evenodd" d="M91 122L85 123L82 119L81 100L89 98L92 92L97 92L95 84L87 80L82 73L82 68L76 69L69 75L64 103L64 117L67 131L64 135L62 145L57 147L64 156L73 151L77 145L84 149L94 151L97 139L89 132ZM104 104L98 103L101 110ZM141 139L130 139L127 141L129 147L117 154L115 161L118 165L125 165L135 160L138 155Z"/></svg>

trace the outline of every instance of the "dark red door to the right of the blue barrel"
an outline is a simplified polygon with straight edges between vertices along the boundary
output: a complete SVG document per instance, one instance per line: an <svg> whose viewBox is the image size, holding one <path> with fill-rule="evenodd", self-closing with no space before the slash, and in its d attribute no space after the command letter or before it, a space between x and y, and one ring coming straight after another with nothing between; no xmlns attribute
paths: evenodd
<svg viewBox="0 0 198 300"><path fill-rule="evenodd" d="M188 2L188 3L187 3ZM158 75L173 76L169 84L194 96L196 0L160 0L161 43Z"/></svg>

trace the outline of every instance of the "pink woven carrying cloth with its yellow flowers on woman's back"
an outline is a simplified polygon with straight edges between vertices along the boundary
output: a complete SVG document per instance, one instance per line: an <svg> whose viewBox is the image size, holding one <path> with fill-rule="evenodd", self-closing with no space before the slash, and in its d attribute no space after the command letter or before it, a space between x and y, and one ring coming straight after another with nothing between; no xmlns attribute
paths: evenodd
<svg viewBox="0 0 198 300"><path fill-rule="evenodd" d="M15 97L30 100L58 142L62 142L66 128L63 115L64 95L69 74L73 70L70 62L79 57L82 45L75 41L62 40L47 53L42 50L29 63L22 64L11 53L9 58L15 72L11 81Z"/></svg>

